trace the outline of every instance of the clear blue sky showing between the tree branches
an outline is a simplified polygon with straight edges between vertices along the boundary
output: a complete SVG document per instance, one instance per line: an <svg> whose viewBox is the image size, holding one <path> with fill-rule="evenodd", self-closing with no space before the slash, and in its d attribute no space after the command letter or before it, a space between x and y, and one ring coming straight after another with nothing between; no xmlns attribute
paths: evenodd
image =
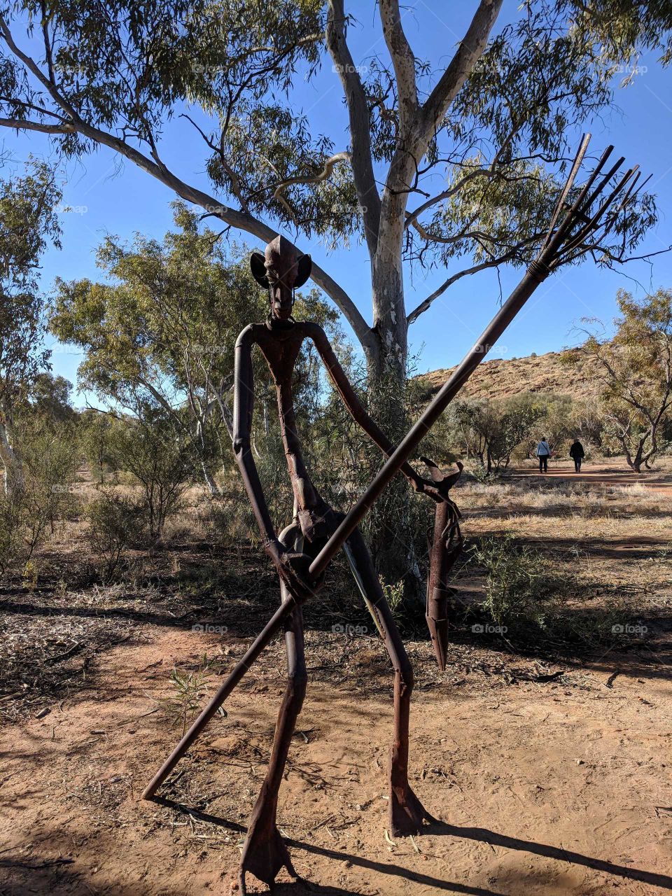
<svg viewBox="0 0 672 896"><path fill-rule="evenodd" d="M505 0L504 9L508 8L513 15L517 5ZM369 0L350 6L358 10L360 22L349 32L353 56L356 63L366 64L367 56L384 50L382 36L376 30L377 14ZM423 0L411 4L404 15L404 27L416 54L431 59L435 65L445 65L475 6L471 2L428 4ZM618 154L625 155L627 162L638 162L645 175L652 174L647 189L657 194L660 220L645 247L655 252L672 243L672 70L661 70L654 56L642 57L640 66L642 73L633 84L616 90L614 107L603 113L600 120L586 121L584 129L593 134L593 152L599 153L608 143L614 143ZM340 82L329 62L314 83L299 85L294 101L309 117L315 132L332 137L336 151L346 148L347 116L341 101ZM577 142L579 136L576 135ZM41 135L2 132L0 148L3 145L16 164L27 159L30 153L45 158L50 155L48 141ZM184 119L168 123L161 151L169 167L187 182L210 191L203 172L204 149L201 138ZM131 238L135 231L140 231L161 237L171 226L169 202L173 194L130 162L120 164L112 151L103 149L81 162L71 161L63 174L65 203L74 211L61 215L63 248L50 250L44 258L43 289L49 289L56 276L65 280L100 279L93 253L106 233ZM240 234L233 236L241 239ZM249 245L257 245L252 237L242 237ZM355 245L328 253L317 242L299 240L298 243L349 291L370 322L369 263L365 247ZM652 267L644 262L628 264L625 274L637 282L623 274L597 269L591 261L560 271L538 289L492 357L521 357L533 351L542 354L575 342L573 326L580 318L596 316L604 321L613 318L619 287L632 289L637 295L659 286L672 287L671 255L659 255L653 259ZM450 271L463 266L466 266L464 259L459 268ZM443 269L416 271L407 279L407 308L415 307L446 276ZM503 269L504 297L520 276L521 271ZM495 313L498 297L495 272L483 271L459 281L444 297L437 299L409 332L411 355L417 360L418 370L457 363ZM82 356L56 343L52 348L54 372L74 383ZM76 403L82 404L84 400L85 396L80 395Z"/></svg>

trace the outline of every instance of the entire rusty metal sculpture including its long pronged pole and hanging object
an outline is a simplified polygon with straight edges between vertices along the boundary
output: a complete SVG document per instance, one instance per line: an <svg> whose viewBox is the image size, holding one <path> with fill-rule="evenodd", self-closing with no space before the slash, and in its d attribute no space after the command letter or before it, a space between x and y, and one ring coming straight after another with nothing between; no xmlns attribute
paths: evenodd
<svg viewBox="0 0 672 896"><path fill-rule="evenodd" d="M288 685L275 729L266 778L250 819L246 844L240 863L240 888L246 892L246 872L252 872L264 883L271 885L281 867L296 875L289 852L276 826L278 791L282 772L287 761L289 743L297 716L306 693L306 663L304 658L303 618L301 605L315 593L322 582L323 573L332 557L343 547L349 565L358 583L378 630L382 633L394 669L394 732L390 754L389 823L393 834L402 836L420 832L432 816L420 803L409 787L409 701L413 689L413 673L401 642L400 634L392 620L392 614L383 596L383 590L375 574L374 564L358 522L375 503L392 477L402 472L411 486L428 495L437 504L435 528L431 539L430 570L427 582L426 619L435 647L439 667L444 668L447 650L448 607L450 590L448 573L461 547L460 513L448 492L461 474L445 475L432 461L425 460L430 479L422 478L409 465L408 459L436 419L460 391L470 375L487 354L487 350L499 340L506 327L513 321L521 307L538 285L561 264L599 248L600 241L616 226L617 216L632 202L639 180L637 168L630 168L602 200L599 197L616 175L624 159L599 179L613 151L609 147L581 189L573 194L573 184L582 159L588 148L590 135L586 135L574 159L569 177L561 191L552 214L547 237L532 261L518 287L513 290L493 321L487 326L478 342L457 366L433 401L426 407L408 434L394 448L375 422L368 416L356 392L353 390L332 346L323 330L314 323L296 322L291 317L294 290L303 285L310 275L311 261L308 255L299 255L297 249L283 237L277 237L266 247L265 256L254 253L251 267L255 280L269 290L271 311L265 323L253 323L240 334L236 345L236 392L234 408L234 447L241 475L253 505L254 515L263 534L263 545L275 564L280 577L280 607L259 633L244 657L220 686L211 701L185 737L176 746L157 774L145 788L142 797L150 799L168 777L179 759L199 736L202 729L219 710L228 694L245 676L264 647L280 628L284 628L288 659ZM642 187L640 186L640 189ZM569 198L571 197L571 202ZM616 202L616 200L619 200ZM342 401L352 417L388 455L388 460L366 488L358 502L347 514L337 513L327 504L308 476L296 432L296 420L292 403L291 378L301 345L311 340ZM276 537L268 506L250 447L254 383L252 373L252 349L261 349L271 368L276 384L280 411L280 428L288 460L289 476L295 497L294 520Z"/></svg>

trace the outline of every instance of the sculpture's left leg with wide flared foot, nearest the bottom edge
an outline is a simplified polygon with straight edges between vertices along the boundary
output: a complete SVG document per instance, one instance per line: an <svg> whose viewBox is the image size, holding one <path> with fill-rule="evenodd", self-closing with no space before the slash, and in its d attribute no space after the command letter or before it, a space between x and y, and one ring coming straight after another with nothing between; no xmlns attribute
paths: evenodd
<svg viewBox="0 0 672 896"><path fill-rule="evenodd" d="M292 526L290 530L285 530L282 533L280 536L282 541L285 541L288 531L291 532L291 535L296 534L296 529ZM282 583L280 583L280 593L283 602L289 599L289 592ZM248 871L263 883L268 884L269 887L272 886L276 874L282 867L286 867L293 877L298 876L289 858L289 851L280 837L276 816L278 792L287 762L289 744L306 695L307 676L301 607L296 607L289 616L285 628L285 646L288 667L287 688L282 698L275 726L268 771L250 816L243 856L240 860L239 883L243 896L247 892L245 876Z"/></svg>

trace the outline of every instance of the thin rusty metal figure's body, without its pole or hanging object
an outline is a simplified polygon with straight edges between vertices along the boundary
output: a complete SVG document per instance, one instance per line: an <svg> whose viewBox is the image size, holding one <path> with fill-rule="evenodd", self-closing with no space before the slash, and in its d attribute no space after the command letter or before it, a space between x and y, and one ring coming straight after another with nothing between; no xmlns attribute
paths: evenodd
<svg viewBox="0 0 672 896"><path fill-rule="evenodd" d="M323 359L332 382L352 417L383 452L391 454L392 443L368 416L345 375L323 329L315 323L296 322L291 317L294 291L310 274L308 255L299 255L284 237L266 247L265 257L251 258L255 280L269 290L271 313L265 323L253 323L240 334L236 345L236 392L234 402L234 449L254 515L263 535L263 545L280 576L282 601L291 593L306 589L306 576L314 557L337 529L343 514L336 513L311 481L297 436L292 396L292 376L298 353L305 340L311 340ZM287 456L289 477L294 492L294 521L276 537L261 482L250 447L254 384L252 349L257 346L266 359L278 395L280 432ZM444 504L441 483L424 479L408 463L402 466L412 487ZM446 504L447 506L447 504ZM431 816L409 786L409 702L413 690L413 672L392 613L383 596L368 549L356 529L344 545L366 606L383 634L385 647L394 669L394 736L390 754L389 821L393 834L401 836L422 830ZM296 607L285 630L288 676L287 690L280 706L271 749L271 760L263 787L254 806L241 860L241 890L245 892L245 874L251 871L265 883L272 883L282 866L291 874L289 853L276 826L278 790L282 780L289 743L306 693L303 620ZM445 650L445 643L442 645Z"/></svg>

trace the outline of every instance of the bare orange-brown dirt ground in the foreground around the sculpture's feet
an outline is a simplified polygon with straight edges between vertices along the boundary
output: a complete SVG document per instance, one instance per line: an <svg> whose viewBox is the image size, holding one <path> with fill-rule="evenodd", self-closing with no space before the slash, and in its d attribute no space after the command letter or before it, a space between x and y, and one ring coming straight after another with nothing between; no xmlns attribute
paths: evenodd
<svg viewBox="0 0 672 896"><path fill-rule="evenodd" d="M309 663L315 637L308 633ZM244 646L146 629L101 656L89 691L4 729L0 893L236 892L239 844L283 686L275 660L249 676L228 717L213 720L181 763L167 793L189 812L138 798L179 737L157 711L170 668L196 664L222 643L232 661ZM442 823L415 842L385 837L389 673L374 673L373 687L350 676L332 693L309 685L280 827L311 884L277 892L672 891L668 668L628 668L626 657L610 655L534 682L520 671L488 675L455 654L439 676L426 645L411 652L420 684L411 780ZM250 881L251 892L266 892Z"/></svg>

